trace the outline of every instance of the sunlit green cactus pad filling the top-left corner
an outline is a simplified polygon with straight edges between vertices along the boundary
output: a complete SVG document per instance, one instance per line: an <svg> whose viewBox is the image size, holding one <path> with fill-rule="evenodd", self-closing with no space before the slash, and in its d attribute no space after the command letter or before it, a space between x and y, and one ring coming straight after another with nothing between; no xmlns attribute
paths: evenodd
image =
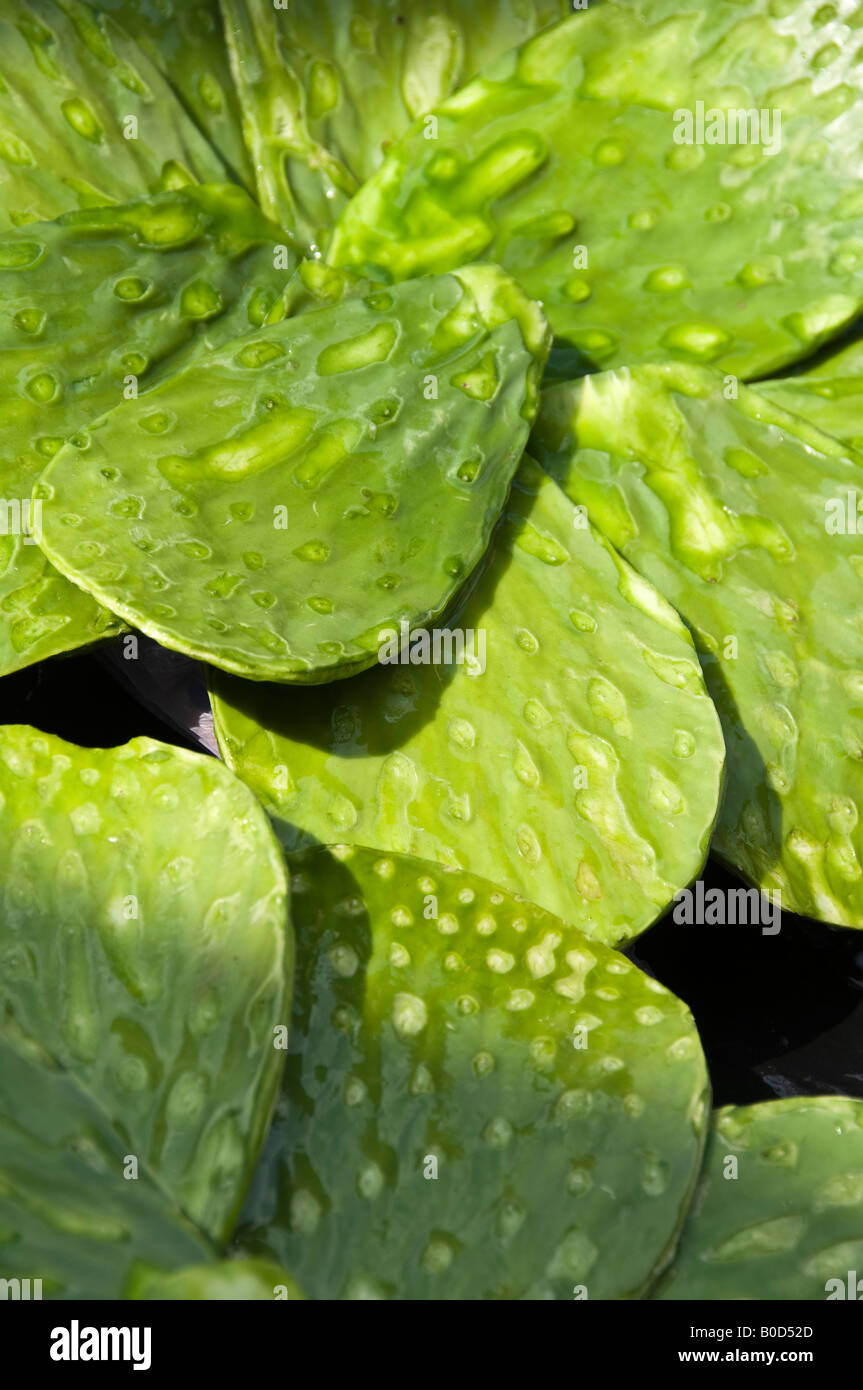
<svg viewBox="0 0 863 1390"><path fill-rule="evenodd" d="M82 0L4 0L1 227L227 178L163 74L110 17Z"/></svg>

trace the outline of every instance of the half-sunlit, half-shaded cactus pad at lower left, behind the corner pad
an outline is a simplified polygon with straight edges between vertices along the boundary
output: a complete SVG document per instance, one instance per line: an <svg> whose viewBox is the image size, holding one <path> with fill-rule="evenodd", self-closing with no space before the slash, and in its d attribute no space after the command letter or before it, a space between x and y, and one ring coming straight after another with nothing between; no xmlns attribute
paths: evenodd
<svg viewBox="0 0 863 1390"><path fill-rule="evenodd" d="M104 1183L108 1204L125 1188L133 1212L131 1156L224 1240L272 1113L283 1058L274 1030L290 1001L286 876L267 819L215 759L149 738L86 749L7 726L0 792L0 1038L63 1106L54 1129L46 1105L29 1140L0 1125L3 1143L25 1173L50 1134L43 1179L54 1165L69 1193ZM8 1083L4 1098L19 1115L29 1090ZM115 1136L111 1161L107 1141L88 1145L94 1113L99 1134ZM21 1195L21 1230L0 1220L13 1272L31 1213L58 1241L75 1234L63 1202L51 1215L53 1183L36 1187L44 1209ZM182 1264L199 1264L188 1244Z"/></svg>

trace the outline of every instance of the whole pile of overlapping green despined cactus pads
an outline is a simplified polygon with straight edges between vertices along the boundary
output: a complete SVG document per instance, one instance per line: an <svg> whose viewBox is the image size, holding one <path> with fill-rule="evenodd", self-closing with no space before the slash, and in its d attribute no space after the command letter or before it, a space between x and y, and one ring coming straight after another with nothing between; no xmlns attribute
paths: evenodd
<svg viewBox="0 0 863 1390"><path fill-rule="evenodd" d="M631 949L863 929L862 150L859 0L0 0L0 676L213 730L0 727L7 1289L863 1258Z"/></svg>

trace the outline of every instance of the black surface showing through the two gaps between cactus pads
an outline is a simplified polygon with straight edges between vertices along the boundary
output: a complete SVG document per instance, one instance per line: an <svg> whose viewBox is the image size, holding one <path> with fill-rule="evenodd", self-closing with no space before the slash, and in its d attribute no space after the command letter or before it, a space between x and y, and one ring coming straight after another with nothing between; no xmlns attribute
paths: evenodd
<svg viewBox="0 0 863 1390"><path fill-rule="evenodd" d="M197 680L195 663L189 667ZM0 720L96 746L135 734L197 746L145 710L93 655L7 677ZM702 878L706 891L741 884L714 860ZM756 927L678 926L667 913L627 954L692 1009L716 1105L813 1094L863 1099L863 945L856 931L784 913L780 933L769 937Z"/></svg>

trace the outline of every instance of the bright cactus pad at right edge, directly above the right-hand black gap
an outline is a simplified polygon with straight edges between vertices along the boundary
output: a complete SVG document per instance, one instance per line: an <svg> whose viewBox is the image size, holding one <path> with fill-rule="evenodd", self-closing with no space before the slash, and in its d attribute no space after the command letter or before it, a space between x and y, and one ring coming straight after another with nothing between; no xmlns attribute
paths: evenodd
<svg viewBox="0 0 863 1390"><path fill-rule="evenodd" d="M728 748L713 849L863 927L863 457L732 389L675 363L557 385L531 448L692 631Z"/></svg>

